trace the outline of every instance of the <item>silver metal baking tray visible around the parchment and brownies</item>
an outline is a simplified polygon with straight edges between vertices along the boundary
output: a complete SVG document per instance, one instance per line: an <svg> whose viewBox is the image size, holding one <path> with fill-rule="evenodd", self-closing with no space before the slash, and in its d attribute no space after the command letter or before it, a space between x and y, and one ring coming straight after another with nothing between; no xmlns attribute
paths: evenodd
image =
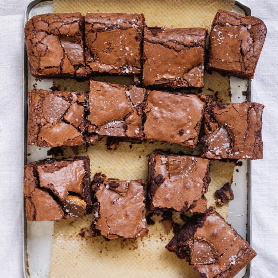
<svg viewBox="0 0 278 278"><path fill-rule="evenodd" d="M25 9L24 22L37 14L52 12L52 1L34 0L30 2ZM235 1L234 11L243 11L246 15L251 15L251 9L239 1ZM47 151L50 148L38 148L27 145L27 112L28 102L27 93L34 83L37 83L39 88L49 89L52 86L52 80L41 80L36 82L30 75L27 52L25 43L24 50L24 83L23 83L23 100L24 112L22 126L24 129L24 160L22 161L22 176L23 165L38 159L49 157ZM251 81L241 80L235 77L230 78L232 102L252 101ZM247 96L243 96L242 91L247 92ZM31 153L31 155L30 155ZM27 155L29 154L29 155ZM251 231L251 213L252 213L252 176L251 176L251 161L243 161L243 166L239 172L234 171L233 175L233 191L235 200L230 202L228 208L228 222L245 238L249 243L252 241ZM247 178L246 178L247 177ZM241 183L241 186L236 186ZM23 188L23 187L22 187ZM23 197L24 198L24 197ZM25 207L25 203L24 203ZM25 209L22 219L23 225L23 273L24 277L39 277L44 278L49 276L49 268L51 262L52 251L52 236L53 222L28 222L26 220ZM250 277L252 272L252 263L245 269L240 271L235 277Z"/></svg>

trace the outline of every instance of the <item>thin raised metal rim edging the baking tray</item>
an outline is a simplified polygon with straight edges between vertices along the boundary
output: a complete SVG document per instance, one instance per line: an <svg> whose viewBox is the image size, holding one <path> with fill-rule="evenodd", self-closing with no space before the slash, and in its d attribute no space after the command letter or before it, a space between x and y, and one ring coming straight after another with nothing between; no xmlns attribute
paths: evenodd
<svg viewBox="0 0 278 278"><path fill-rule="evenodd" d="M24 11L24 26L28 21L28 16L30 11L38 4L43 2L53 2L53 0L31 0L27 3ZM249 6L242 4L240 1L235 0L235 5L241 8L244 13L248 16L252 15L252 10ZM23 38L24 38L24 29L23 29ZM22 133L24 134L23 138L23 161L22 161L22 176L24 176L24 165L27 162L27 116L28 116L28 107L27 107L27 95L28 95L28 81L27 81L27 74L28 74L28 57L26 51L25 40L23 40L23 111L22 111ZM252 102L252 80L248 80L248 87L247 87L247 101ZM251 245L252 243L252 161L248 160L247 162L247 229L246 229L246 241ZM23 181L24 182L24 181ZM23 276L24 278L29 278L29 270L28 270L28 253L27 253L27 220L26 220L26 212L25 212L25 198L24 198L24 183L22 184L22 198L23 198L23 214L22 214L22 252L23 252L23 259L22 259L22 267L23 267ZM247 267L246 272L242 278L249 278L252 274L252 265L253 262L251 261Z"/></svg>

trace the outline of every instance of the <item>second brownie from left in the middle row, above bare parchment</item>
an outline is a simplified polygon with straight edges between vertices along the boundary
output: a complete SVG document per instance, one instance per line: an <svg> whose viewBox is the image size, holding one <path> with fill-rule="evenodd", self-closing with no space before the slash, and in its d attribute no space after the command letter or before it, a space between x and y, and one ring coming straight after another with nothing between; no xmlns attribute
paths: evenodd
<svg viewBox="0 0 278 278"><path fill-rule="evenodd" d="M145 95L143 88L90 80L88 133L140 140Z"/></svg>

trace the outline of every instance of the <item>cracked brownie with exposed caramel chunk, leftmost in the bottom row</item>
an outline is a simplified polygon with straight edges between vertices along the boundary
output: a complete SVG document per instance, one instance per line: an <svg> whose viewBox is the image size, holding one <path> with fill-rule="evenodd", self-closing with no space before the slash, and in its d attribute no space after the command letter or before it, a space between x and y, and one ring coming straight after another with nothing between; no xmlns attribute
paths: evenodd
<svg viewBox="0 0 278 278"><path fill-rule="evenodd" d="M90 159L45 159L24 166L27 220L54 221L92 211Z"/></svg>

